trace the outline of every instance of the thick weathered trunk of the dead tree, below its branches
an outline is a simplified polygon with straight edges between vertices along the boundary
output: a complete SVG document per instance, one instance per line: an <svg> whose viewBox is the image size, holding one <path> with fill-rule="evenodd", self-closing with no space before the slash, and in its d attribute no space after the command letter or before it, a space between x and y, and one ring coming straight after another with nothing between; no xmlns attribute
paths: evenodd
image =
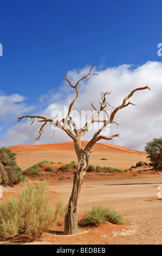
<svg viewBox="0 0 162 256"><path fill-rule="evenodd" d="M64 231L65 235L74 235L78 233L77 228L77 214L80 192L85 178L86 171L89 166L89 154L81 149L81 143L75 143L75 151L79 160L76 174L73 180L73 190L69 199L68 212L64 218Z"/></svg>

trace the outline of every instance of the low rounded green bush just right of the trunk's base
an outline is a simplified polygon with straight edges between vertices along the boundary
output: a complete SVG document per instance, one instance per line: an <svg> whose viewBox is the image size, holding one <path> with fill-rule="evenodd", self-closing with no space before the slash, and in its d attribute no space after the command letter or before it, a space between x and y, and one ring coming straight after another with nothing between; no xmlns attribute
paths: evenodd
<svg viewBox="0 0 162 256"><path fill-rule="evenodd" d="M122 221L121 214L117 214L116 211L103 205L94 205L91 210L85 211L82 224L99 225L105 221L109 221L114 224L125 224L124 221Z"/></svg>

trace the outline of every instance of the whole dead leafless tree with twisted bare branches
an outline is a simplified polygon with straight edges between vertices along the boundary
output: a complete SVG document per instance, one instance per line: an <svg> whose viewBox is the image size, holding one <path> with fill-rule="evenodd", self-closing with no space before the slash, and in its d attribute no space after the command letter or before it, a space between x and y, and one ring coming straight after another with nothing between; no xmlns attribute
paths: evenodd
<svg viewBox="0 0 162 256"><path fill-rule="evenodd" d="M93 64L93 66L94 66L94 64ZM92 66L92 68L93 68L93 66ZM94 146L94 144L96 142L100 141L100 139L105 139L105 140L109 141L109 140L112 140L114 137L119 137L119 134L115 134L115 135L106 137L106 136L101 135L101 131L105 127L108 127L108 125L110 125L110 124L117 124L114 121L116 112L118 112L120 109L125 108L129 105L134 105L133 103L131 103L128 100L135 92L137 92L138 90L144 90L144 89L150 90L150 88L148 86L134 89L130 94L128 94L125 97L122 104L116 108L113 108L106 101L106 96L110 95L111 93L108 93L108 92L101 93L102 101L100 103L100 109L97 110L94 107L94 105L92 104L92 107L94 108L95 113L92 115L90 120L88 120L87 123L79 129L79 128L77 128L76 124L74 123L72 117L70 117L70 113L72 111L73 105L75 104L75 102L77 101L77 99L79 97L79 90L78 90L79 83L90 75L97 75L97 74L91 73L92 68L90 68L89 73L87 75L83 76L79 81L77 81L77 83L75 85L73 85L69 81L68 76L66 74L64 74L64 80L66 80L69 83L69 86L72 87L76 91L76 97L75 97L75 99L73 99L72 103L70 103L70 105L69 105L68 114L67 114L66 118L64 118L62 120L54 121L53 119L48 119L45 117L41 117L39 115L24 115L23 117L18 117L18 121L20 121L23 118L31 118L31 120L30 120L31 124L34 123L35 119L40 119L40 120L38 120L38 122L43 123L43 125L40 128L39 136L38 136L38 138L36 138L37 140L41 137L43 128L47 123L49 123L50 125L53 125L54 127L62 129L64 132L67 133L67 135L70 138L73 139L75 153L76 153L76 156L78 159L78 166L77 166L76 173L74 174L73 190L72 190L72 194L69 199L68 212L64 218L64 234L66 234L66 235L73 235L73 234L78 233L78 228L77 228L78 203L79 203L81 188L83 185L83 179L85 177L86 171L89 166L89 155L92 152L92 150L91 150L92 147ZM113 111L110 116L108 115L108 112L106 111L107 105L109 107L113 108ZM105 120L99 120L99 119L96 120L95 118L98 118L99 115L103 112L106 115ZM102 122L103 125L102 125L102 127L100 127L100 129L97 132L95 132L93 138L87 143L85 149L83 149L82 145L81 145L81 139L85 135L85 133L88 131L90 125L92 125L94 122ZM72 129L72 127L73 127L73 129Z"/></svg>

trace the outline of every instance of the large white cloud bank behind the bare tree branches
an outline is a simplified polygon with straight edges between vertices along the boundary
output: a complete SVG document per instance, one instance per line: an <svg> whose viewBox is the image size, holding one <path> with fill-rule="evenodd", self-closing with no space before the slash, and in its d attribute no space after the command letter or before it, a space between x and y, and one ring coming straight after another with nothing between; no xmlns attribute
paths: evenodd
<svg viewBox="0 0 162 256"><path fill-rule="evenodd" d="M69 80L74 84L88 72L89 66L86 66L83 69L71 70L67 75L69 76ZM141 90L131 97L130 101L138 106L129 105L116 114L114 120L119 126L111 125L110 135L119 133L120 138L114 138L110 143L144 150L145 143L151 141L154 137L161 136L162 62L149 61L136 68L133 65L127 64L104 70L97 70L94 67L93 72L99 74L99 76L89 76L79 84L80 96L73 108L74 110L81 111L89 109L92 111L91 102L99 109L99 102L101 102L100 93L107 91L112 91L111 95L107 96L107 101L113 107L117 107L121 105L124 97L133 89L149 85L151 91L148 89ZM51 96L50 100L49 95ZM11 105L14 105L15 109L19 104L22 104L23 97L21 97L12 97L13 101ZM54 109L63 109L63 106L68 106L74 97L75 90L64 81L59 92L56 94L54 91L50 91L47 95L41 96L41 100L48 99L49 105L39 114L51 118L51 112ZM16 103L16 100L18 103ZM111 108L107 109L112 111ZM18 113L17 109L16 112ZM34 123L31 127L29 120L25 121L25 123L20 122L9 128L3 138L0 139L0 145L3 143L5 145L8 145L8 143L10 145L22 144L24 142L34 144L39 127L39 123ZM90 139L93 133L93 131L88 131L83 139ZM71 140L63 131L56 131L53 139L50 138L51 136L53 136L53 130L51 126L48 126L44 129L44 133L38 143L55 143Z"/></svg>

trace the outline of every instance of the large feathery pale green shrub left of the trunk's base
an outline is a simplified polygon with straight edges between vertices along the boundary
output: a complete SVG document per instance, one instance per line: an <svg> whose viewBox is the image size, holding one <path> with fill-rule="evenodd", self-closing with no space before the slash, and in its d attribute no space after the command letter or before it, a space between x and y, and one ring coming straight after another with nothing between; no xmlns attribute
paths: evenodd
<svg viewBox="0 0 162 256"><path fill-rule="evenodd" d="M4 239L16 234L40 237L51 225L56 225L66 212L60 198L54 209L47 195L47 182L25 184L18 198L10 196L0 202L0 236Z"/></svg>

